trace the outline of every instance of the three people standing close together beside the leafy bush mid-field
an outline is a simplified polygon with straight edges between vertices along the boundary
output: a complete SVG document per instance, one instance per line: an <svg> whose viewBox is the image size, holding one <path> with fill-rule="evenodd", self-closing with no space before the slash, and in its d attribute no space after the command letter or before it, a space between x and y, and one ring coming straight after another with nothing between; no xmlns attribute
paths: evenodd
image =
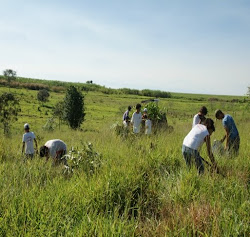
<svg viewBox="0 0 250 237"><path fill-rule="evenodd" d="M130 120L129 113L132 109L131 106L128 106L128 109L123 114L123 126L125 128L133 127L133 132L135 134L139 134L141 132L141 125L145 128L145 134L152 133L152 121L150 120L150 116L148 115L148 110L145 108L143 110L143 114L141 113L141 104L137 104L135 109L136 111L133 113L132 118Z"/></svg>

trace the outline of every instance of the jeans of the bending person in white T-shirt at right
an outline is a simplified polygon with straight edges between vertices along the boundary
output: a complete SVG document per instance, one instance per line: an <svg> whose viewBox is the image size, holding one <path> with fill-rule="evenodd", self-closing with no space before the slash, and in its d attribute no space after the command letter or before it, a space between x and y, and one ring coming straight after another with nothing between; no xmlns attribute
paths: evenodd
<svg viewBox="0 0 250 237"><path fill-rule="evenodd" d="M195 163L195 166L198 169L199 174L204 173L204 165L202 162L202 158L197 150L194 150L192 148L183 145L182 154L189 168L191 168L191 165Z"/></svg>

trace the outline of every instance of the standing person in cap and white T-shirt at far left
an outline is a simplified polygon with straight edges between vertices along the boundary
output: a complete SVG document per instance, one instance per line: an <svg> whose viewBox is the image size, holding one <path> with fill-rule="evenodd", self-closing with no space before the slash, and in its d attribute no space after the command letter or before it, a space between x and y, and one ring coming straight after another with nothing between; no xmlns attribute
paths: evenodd
<svg viewBox="0 0 250 237"><path fill-rule="evenodd" d="M37 150L36 136L33 132L30 132L30 126L28 123L24 124L24 131L25 133L23 134L22 154L24 153L25 150L26 157L32 159L35 154L34 142Z"/></svg>

